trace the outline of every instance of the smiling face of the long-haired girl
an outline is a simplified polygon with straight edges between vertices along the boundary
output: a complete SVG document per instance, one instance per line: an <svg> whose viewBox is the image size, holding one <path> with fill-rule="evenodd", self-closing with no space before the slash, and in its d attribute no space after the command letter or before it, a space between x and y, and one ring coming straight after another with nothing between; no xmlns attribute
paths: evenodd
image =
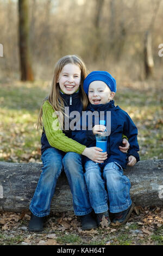
<svg viewBox="0 0 163 256"><path fill-rule="evenodd" d="M62 68L57 82L65 94L75 93L80 86L81 70L76 64L66 64Z"/></svg>

